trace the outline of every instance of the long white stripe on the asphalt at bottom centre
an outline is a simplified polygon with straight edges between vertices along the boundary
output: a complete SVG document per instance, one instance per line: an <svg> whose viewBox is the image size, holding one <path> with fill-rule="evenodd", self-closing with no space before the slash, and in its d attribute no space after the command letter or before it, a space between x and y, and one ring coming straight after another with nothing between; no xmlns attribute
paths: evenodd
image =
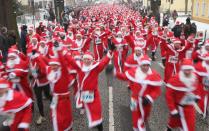
<svg viewBox="0 0 209 131"><path fill-rule="evenodd" d="M113 116L113 93L112 86L109 87L109 131L114 131L114 116Z"/></svg>

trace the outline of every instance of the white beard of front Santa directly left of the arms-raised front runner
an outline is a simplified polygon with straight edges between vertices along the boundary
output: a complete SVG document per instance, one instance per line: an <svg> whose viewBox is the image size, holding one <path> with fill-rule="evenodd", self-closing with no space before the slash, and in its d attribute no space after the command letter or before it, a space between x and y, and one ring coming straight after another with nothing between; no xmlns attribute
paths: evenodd
<svg viewBox="0 0 209 131"><path fill-rule="evenodd" d="M56 83L61 77L61 69L58 69L58 71L50 71L50 73L47 75L47 79L51 83Z"/></svg>

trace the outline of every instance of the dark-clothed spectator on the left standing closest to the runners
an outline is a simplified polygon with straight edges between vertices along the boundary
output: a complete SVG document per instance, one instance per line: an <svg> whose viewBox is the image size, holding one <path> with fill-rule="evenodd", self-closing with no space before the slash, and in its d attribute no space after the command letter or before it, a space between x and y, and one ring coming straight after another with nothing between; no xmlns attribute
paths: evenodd
<svg viewBox="0 0 209 131"><path fill-rule="evenodd" d="M21 27L21 35L20 35L20 48L24 54L26 54L26 36L27 36L27 26L23 25Z"/></svg>

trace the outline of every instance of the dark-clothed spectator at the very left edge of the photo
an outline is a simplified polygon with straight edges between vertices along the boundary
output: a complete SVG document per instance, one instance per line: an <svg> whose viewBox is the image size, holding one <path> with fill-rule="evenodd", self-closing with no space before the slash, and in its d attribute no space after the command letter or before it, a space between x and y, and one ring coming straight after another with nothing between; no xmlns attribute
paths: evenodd
<svg viewBox="0 0 209 131"><path fill-rule="evenodd" d="M7 52L8 52L8 41L7 41L7 28L0 28L0 55L2 58L2 62L6 62Z"/></svg>

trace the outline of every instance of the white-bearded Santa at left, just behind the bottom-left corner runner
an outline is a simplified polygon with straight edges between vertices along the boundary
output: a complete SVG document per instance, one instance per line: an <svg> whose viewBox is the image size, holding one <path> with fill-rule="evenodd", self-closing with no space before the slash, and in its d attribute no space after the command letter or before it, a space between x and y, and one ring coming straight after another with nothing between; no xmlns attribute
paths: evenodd
<svg viewBox="0 0 209 131"><path fill-rule="evenodd" d="M20 91L29 98L33 98L32 89L28 80L28 59L17 49L11 48L8 53L6 72L8 79L13 83L13 89Z"/></svg>

